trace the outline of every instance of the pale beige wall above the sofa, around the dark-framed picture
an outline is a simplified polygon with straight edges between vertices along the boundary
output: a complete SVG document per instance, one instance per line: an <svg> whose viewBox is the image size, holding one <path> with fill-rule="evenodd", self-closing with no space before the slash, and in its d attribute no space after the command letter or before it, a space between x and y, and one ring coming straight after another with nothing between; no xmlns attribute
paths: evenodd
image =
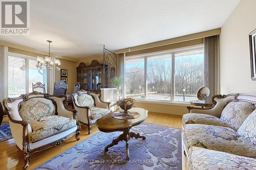
<svg viewBox="0 0 256 170"><path fill-rule="evenodd" d="M241 0L221 28L220 92L256 93L250 76L248 35L256 29L255 0Z"/></svg>

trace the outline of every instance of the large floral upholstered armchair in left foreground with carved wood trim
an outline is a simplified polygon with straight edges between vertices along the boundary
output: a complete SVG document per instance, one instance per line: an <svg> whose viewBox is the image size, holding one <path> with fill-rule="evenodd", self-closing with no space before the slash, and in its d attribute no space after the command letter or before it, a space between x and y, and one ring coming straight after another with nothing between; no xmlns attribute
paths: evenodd
<svg viewBox="0 0 256 170"><path fill-rule="evenodd" d="M76 110L67 108L66 102L66 95L36 91L4 100L12 136L17 148L23 151L25 169L31 154L60 145L73 135L79 140L81 127Z"/></svg>

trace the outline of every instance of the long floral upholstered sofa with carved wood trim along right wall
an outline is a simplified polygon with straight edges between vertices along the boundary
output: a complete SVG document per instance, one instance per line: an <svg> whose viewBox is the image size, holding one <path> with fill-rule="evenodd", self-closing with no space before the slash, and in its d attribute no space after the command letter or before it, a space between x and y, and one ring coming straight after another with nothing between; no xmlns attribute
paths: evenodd
<svg viewBox="0 0 256 170"><path fill-rule="evenodd" d="M212 96L182 118L187 169L256 169L256 94Z"/></svg>

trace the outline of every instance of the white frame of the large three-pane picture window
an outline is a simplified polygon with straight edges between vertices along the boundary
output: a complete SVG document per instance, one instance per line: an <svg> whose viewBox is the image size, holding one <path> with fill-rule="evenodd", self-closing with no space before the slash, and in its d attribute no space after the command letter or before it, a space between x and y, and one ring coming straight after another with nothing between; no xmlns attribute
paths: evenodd
<svg viewBox="0 0 256 170"><path fill-rule="evenodd" d="M154 52L154 53L148 53L148 54L143 54L143 55L136 55L136 56L129 56L125 57L124 60L124 65L126 60L132 60L132 59L139 59L139 58L144 58L144 99L136 99L138 101L149 101L149 102L157 102L157 103L178 103L178 104L186 104L189 102L186 101L175 101L175 54L177 53L182 53L182 52L189 52L189 51L196 51L196 50L204 50L204 44L198 44L198 45L193 45L193 46L186 46L186 47L181 47L181 48L176 48L172 50L167 50L167 51L161 51L161 52ZM150 100L147 99L147 59L150 57L158 56L158 55L166 55L170 54L172 55L172 96L173 96L173 101L164 101L164 100ZM205 82L204 82L205 83ZM124 66L124 89L126 89L125 85L125 66ZM124 90L124 96L126 96L126 91Z"/></svg>

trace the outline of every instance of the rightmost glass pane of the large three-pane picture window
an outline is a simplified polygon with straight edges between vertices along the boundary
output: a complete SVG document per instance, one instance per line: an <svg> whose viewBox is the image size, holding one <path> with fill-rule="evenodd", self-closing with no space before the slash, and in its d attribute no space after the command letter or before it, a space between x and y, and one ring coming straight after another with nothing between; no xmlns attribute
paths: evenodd
<svg viewBox="0 0 256 170"><path fill-rule="evenodd" d="M203 86L203 49L175 54L175 101L197 100L197 92Z"/></svg>

